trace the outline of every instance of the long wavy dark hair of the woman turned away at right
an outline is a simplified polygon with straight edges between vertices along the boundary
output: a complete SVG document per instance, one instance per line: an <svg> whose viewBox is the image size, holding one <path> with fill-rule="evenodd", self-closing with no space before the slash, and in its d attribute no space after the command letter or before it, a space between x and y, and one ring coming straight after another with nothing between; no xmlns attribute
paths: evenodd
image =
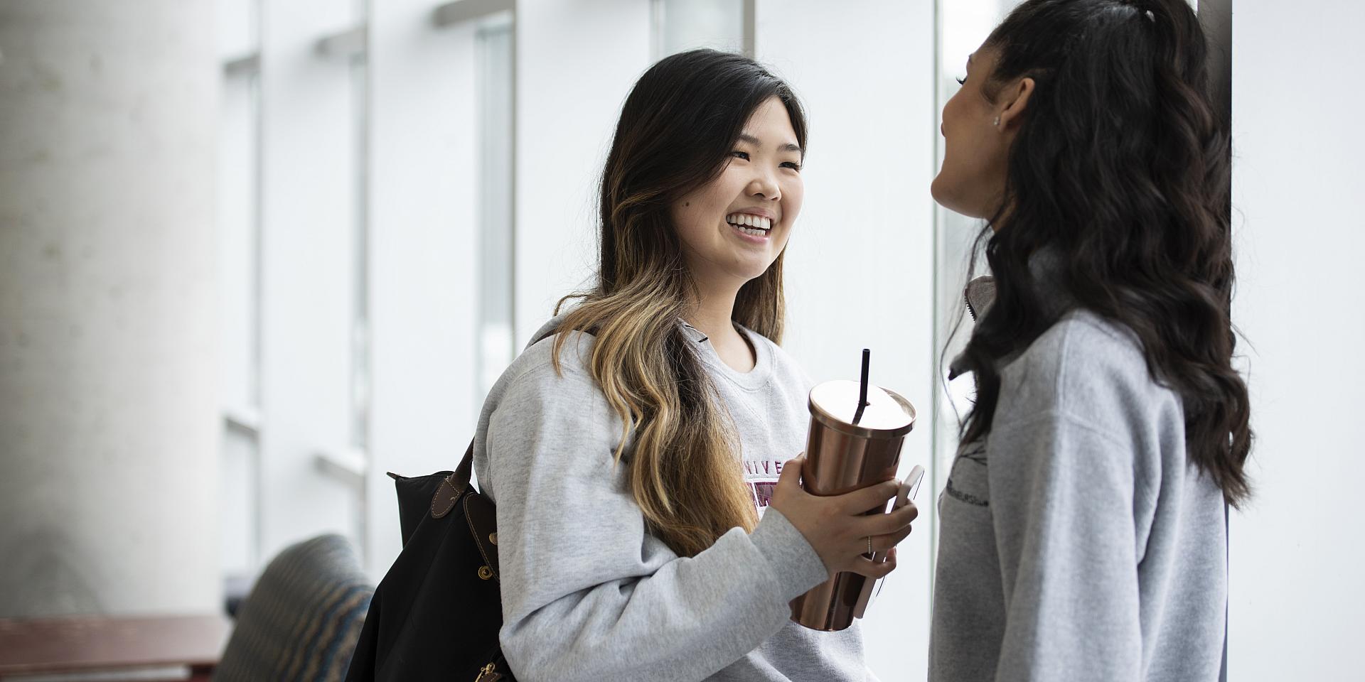
<svg viewBox="0 0 1365 682"><path fill-rule="evenodd" d="M1231 367L1228 134L1194 12L1183 0L1029 0L986 46L988 98L1018 78L1035 89L988 220L996 300L964 355L977 400L962 438L991 428L1001 357L1057 322L1029 270L1046 250L1076 306L1137 336L1152 378L1181 396L1190 461L1239 503L1252 431Z"/></svg>

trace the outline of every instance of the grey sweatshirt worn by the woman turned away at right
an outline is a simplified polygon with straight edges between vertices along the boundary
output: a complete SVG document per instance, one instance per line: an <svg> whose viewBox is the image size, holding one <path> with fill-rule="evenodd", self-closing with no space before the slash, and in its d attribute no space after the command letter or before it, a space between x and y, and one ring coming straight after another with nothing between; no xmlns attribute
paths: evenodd
<svg viewBox="0 0 1365 682"><path fill-rule="evenodd" d="M1126 327L1073 311L1002 368L939 518L931 681L1218 679L1223 496Z"/></svg>

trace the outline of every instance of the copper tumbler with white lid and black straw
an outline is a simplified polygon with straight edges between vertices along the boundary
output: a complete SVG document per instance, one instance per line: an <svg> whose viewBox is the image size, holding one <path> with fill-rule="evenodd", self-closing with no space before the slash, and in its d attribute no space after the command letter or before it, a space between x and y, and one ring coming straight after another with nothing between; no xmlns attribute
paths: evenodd
<svg viewBox="0 0 1365 682"><path fill-rule="evenodd" d="M915 406L897 393L853 381L824 382L811 390L811 432L805 441L801 486L812 495L842 495L895 477L901 443L915 428ZM883 513L885 505L868 513ZM792 621L815 630L842 630L863 615L870 578L837 573L792 600Z"/></svg>

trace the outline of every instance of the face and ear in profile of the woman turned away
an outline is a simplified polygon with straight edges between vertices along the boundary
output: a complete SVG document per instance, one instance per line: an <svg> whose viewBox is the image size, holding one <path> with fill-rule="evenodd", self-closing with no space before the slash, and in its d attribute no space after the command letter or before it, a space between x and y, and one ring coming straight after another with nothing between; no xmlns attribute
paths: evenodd
<svg viewBox="0 0 1365 682"><path fill-rule="evenodd" d="M1013 127L1002 120L1003 102L987 98L995 50L979 48L966 60L966 78L943 105L943 166L930 186L934 201L972 218L988 218L1005 194Z"/></svg>

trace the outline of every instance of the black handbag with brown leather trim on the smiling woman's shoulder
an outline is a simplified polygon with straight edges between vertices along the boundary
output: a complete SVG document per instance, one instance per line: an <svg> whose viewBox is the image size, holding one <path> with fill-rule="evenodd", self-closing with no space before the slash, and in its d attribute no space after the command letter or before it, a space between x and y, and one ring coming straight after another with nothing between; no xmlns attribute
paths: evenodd
<svg viewBox="0 0 1365 682"><path fill-rule="evenodd" d="M403 551L375 588L347 682L515 682L498 647L497 517L472 469L470 443L453 472L389 473Z"/></svg>

